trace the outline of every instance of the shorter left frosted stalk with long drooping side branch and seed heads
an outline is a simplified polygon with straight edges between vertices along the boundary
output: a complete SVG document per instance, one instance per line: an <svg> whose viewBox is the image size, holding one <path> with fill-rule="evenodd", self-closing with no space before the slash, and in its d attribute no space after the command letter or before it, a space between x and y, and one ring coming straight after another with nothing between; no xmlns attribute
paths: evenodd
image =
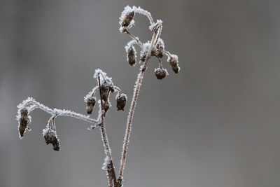
<svg viewBox="0 0 280 187"><path fill-rule="evenodd" d="M113 159L111 154L111 148L109 145L109 139L106 134L104 119L106 117L106 113L111 107L109 100L110 94L116 92L116 106L118 111L123 110L125 108L127 96L121 92L120 88L113 85L112 78L109 78L106 75L106 73L104 73L104 71L102 71L101 69L95 70L94 78L97 79L97 86L95 86L92 89L92 91L90 91L85 96L84 102L86 103L87 114L92 113L92 109L95 103L98 102L99 114L97 116L97 119L93 119L90 118L90 116L85 116L83 114L64 109L50 109L48 106L36 102L35 99L28 97L18 105L18 115L16 117L18 120L18 131L20 134L20 139L22 139L25 132L27 130L30 130L28 125L31 122L31 116L29 116L29 114L34 109L41 109L46 113L50 113L51 117L48 120L45 129L43 129L43 137L45 139L46 144L52 144L53 150L59 151L60 144L59 139L57 137L57 131L55 129L55 118L57 118L58 116L69 116L72 118L77 118L79 120L85 120L86 122L92 124L88 128L89 130L93 130L95 127L99 127L104 145L104 153L106 154L104 164L102 165L102 169L106 170L109 186L114 186L114 183L117 183L117 180L115 168L113 166ZM100 99L98 101L94 96L95 94L99 94Z"/></svg>

